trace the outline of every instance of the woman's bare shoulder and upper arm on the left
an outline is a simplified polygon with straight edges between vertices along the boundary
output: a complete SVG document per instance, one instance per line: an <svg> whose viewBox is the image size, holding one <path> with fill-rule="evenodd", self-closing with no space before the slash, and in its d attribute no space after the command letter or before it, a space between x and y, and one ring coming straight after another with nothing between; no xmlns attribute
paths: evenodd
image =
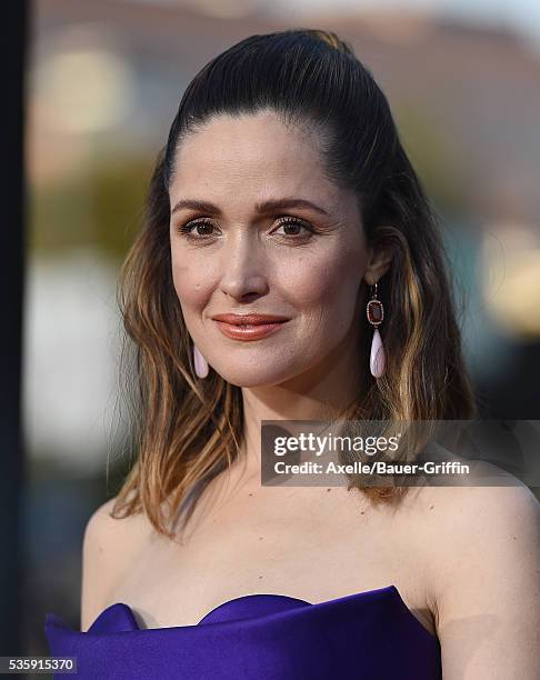
<svg viewBox="0 0 540 680"><path fill-rule="evenodd" d="M117 499L102 503L87 522L82 540L81 630L90 624L107 601L107 593L148 532L143 516L111 516Z"/></svg>

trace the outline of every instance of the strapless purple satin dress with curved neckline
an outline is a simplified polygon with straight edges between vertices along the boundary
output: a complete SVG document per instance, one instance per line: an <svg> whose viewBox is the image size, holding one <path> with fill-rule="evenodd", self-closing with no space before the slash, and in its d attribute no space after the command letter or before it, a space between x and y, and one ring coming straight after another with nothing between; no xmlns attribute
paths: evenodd
<svg viewBox="0 0 540 680"><path fill-rule="evenodd" d="M87 632L48 613L51 656L77 657L80 679L440 680L441 653L396 586L311 604L248 594L197 626L141 629L123 602ZM68 679L70 674L54 678Z"/></svg>

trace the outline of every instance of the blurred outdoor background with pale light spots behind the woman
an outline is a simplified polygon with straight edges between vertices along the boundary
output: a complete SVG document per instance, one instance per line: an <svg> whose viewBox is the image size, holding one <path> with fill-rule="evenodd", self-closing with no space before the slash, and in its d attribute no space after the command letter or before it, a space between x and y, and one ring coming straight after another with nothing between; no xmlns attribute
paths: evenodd
<svg viewBox="0 0 540 680"><path fill-rule="evenodd" d="M232 43L294 27L350 41L389 99L446 226L484 414L540 419L538 2L34 1L21 653L48 654L46 612L79 628L82 531L123 473L116 281L181 94Z"/></svg>

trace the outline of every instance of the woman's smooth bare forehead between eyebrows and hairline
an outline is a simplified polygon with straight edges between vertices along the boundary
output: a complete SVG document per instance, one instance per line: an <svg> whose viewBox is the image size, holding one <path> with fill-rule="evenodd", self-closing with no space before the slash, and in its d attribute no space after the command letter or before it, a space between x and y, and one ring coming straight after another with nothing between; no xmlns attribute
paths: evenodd
<svg viewBox="0 0 540 680"><path fill-rule="evenodd" d="M274 114L219 117L180 144L171 202L248 196L253 202L302 197L333 209L342 191L328 180L317 140L284 127ZM202 197L200 197L202 198Z"/></svg>

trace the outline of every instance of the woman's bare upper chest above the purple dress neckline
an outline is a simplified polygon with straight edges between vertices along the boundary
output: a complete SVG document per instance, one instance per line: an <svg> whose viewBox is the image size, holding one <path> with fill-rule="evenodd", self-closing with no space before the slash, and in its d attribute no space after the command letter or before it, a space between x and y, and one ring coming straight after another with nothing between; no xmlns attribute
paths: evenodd
<svg viewBox="0 0 540 680"><path fill-rule="evenodd" d="M196 624L246 594L314 603L394 584L434 632L420 556L396 519L367 509L346 489L249 500L199 514L181 542L150 534L108 603L127 602L141 627L161 628Z"/></svg>

